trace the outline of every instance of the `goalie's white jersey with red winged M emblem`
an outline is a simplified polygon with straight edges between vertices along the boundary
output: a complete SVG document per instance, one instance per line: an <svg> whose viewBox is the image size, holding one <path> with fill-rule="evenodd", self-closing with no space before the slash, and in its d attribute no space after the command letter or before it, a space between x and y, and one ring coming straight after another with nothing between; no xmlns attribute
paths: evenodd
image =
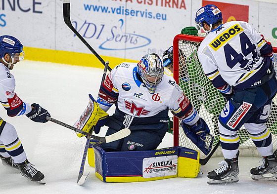
<svg viewBox="0 0 277 194"><path fill-rule="evenodd" d="M136 63L122 63L115 67L103 81L97 102L104 111L116 103L120 111L135 117L155 116L169 108L187 124L192 125L199 119L183 90L171 76L164 75L155 93L150 94L139 80Z"/></svg>

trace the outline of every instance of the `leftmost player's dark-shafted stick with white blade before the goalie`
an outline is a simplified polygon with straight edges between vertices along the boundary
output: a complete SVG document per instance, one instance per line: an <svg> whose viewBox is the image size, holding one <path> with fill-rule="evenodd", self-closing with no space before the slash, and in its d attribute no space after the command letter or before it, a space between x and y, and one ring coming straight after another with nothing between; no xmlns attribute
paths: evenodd
<svg viewBox="0 0 277 194"><path fill-rule="evenodd" d="M49 121L52 121L54 123L57 123L57 124L59 124L61 126L64 126L66 128L69 128L69 129L71 129L71 130L73 130L75 132L82 133L83 135L85 135L87 137L93 138L95 140L98 140L98 141L104 142L104 143L113 142L113 141L122 139L124 137L127 137L128 135L131 134L130 129L124 128L124 129L121 129L121 130L117 131L116 133L111 134L111 135L104 136L104 137L99 137L99 136L96 136L96 135L92 135L91 133L87 133L85 131L77 129L77 128L69 125L69 124L66 124L66 123L64 123L62 121L56 120L56 119L54 119L52 117L46 116L46 119L49 120Z"/></svg>

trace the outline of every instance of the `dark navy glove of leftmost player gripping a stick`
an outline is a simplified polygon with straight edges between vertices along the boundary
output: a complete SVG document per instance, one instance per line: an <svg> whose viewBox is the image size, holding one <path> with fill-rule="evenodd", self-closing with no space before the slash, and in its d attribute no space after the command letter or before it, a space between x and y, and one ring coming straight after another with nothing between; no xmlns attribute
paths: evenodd
<svg viewBox="0 0 277 194"><path fill-rule="evenodd" d="M50 116L47 110L42 108L39 104L32 104L32 111L26 116L35 122L47 122L46 116ZM34 108L34 109L33 109Z"/></svg>

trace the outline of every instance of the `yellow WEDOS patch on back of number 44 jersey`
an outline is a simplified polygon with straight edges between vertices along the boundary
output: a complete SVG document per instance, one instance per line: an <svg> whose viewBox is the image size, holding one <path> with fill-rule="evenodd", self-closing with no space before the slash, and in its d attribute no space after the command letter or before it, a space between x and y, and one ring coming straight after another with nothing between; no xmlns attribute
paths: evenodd
<svg viewBox="0 0 277 194"><path fill-rule="evenodd" d="M238 25L235 24L225 30L223 33L221 33L221 36L216 37L209 43L209 46L214 49L214 51L217 51L221 46L223 46L228 40L232 39L234 36L236 36L238 33L242 32L243 29Z"/></svg>

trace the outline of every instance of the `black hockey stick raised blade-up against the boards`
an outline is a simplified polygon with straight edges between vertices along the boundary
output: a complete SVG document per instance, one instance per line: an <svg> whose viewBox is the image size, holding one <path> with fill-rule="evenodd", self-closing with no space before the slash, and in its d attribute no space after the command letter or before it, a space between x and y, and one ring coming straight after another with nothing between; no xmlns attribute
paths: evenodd
<svg viewBox="0 0 277 194"><path fill-rule="evenodd" d="M78 33L78 31L72 26L70 21L70 0L62 1L62 9L63 9L63 20L65 24L72 30L72 32L90 49L90 51L95 55L95 57L105 65L105 61L98 55L98 53L91 47L91 45ZM108 66L108 70L112 69Z"/></svg>

